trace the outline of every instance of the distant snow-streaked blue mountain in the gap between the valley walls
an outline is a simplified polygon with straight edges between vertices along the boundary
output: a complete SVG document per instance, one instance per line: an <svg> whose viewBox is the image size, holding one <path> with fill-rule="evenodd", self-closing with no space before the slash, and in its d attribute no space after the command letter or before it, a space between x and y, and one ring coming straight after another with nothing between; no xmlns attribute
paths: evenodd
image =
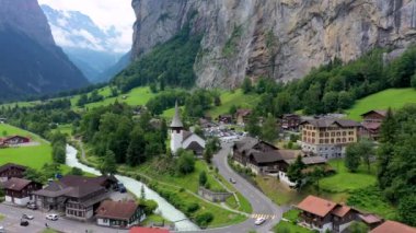
<svg viewBox="0 0 416 233"><path fill-rule="evenodd" d="M102 75L118 62L124 53L113 43L118 33L114 27L103 30L90 16L79 11L60 11L43 4L56 43L91 82L108 81Z"/></svg>

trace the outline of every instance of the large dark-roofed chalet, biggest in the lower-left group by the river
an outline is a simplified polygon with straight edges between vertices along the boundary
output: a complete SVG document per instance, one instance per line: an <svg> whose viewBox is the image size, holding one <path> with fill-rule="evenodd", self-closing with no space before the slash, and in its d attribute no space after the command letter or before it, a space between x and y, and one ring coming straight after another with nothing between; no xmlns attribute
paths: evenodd
<svg viewBox="0 0 416 233"><path fill-rule="evenodd" d="M100 202L107 199L114 180L111 177L67 175L34 193L35 202L43 210L55 210L76 220L88 220Z"/></svg>

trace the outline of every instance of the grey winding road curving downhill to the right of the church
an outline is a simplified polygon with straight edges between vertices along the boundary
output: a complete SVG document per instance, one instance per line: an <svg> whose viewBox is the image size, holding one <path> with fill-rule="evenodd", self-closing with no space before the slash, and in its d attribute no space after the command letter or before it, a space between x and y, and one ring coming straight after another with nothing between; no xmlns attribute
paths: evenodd
<svg viewBox="0 0 416 233"><path fill-rule="evenodd" d="M270 232L271 228L276 225L282 215L284 209L275 205L267 196L259 191L256 187L235 173L228 164L227 156L231 151L233 143L222 143L222 149L213 156L212 163L218 167L219 173L224 178L232 177L235 184L232 184L252 205L253 214L251 215L268 215L273 217L267 219L262 225L255 225L255 218L249 218L246 221L230 225L222 229L205 230L209 233L245 233L254 230L258 233Z"/></svg>

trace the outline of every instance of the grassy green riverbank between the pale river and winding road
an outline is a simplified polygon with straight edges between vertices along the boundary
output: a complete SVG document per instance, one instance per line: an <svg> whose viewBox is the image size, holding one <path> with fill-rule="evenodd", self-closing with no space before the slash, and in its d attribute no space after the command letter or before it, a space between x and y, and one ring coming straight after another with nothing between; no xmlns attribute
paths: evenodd
<svg viewBox="0 0 416 233"><path fill-rule="evenodd" d="M82 149L81 147L82 144L78 143L78 148ZM82 163L90 166L96 167L99 164L97 158L90 155L88 152L86 154L85 152L82 153L82 150L78 156ZM197 222L200 214L207 212L212 213L212 221L206 225L201 224L201 226L212 229L238 224L246 220L247 213L251 213L252 208L250 202L239 193L231 196L227 203L211 202L198 196L198 175L201 171L206 172L208 180L213 187L223 189L221 182L216 178L219 174L210 170L204 161L197 161L196 171L183 177L173 177L172 175L164 174L163 168L160 168L162 165L158 163L158 161L155 161L155 163L157 164L151 164L151 162L149 162L138 167L122 165L118 166L118 173L153 187L153 190L161 194L161 196L167 199L176 209L184 212L187 218L195 222ZM224 180L224 178L221 177L221 180Z"/></svg>

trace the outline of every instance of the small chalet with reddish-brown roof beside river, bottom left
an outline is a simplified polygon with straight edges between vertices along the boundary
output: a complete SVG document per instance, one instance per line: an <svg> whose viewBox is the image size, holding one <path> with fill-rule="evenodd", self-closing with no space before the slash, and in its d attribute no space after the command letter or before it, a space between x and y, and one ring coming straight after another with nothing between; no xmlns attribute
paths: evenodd
<svg viewBox="0 0 416 233"><path fill-rule="evenodd" d="M96 224L111 228L131 228L146 219L145 208L134 200L104 200L95 213Z"/></svg>

